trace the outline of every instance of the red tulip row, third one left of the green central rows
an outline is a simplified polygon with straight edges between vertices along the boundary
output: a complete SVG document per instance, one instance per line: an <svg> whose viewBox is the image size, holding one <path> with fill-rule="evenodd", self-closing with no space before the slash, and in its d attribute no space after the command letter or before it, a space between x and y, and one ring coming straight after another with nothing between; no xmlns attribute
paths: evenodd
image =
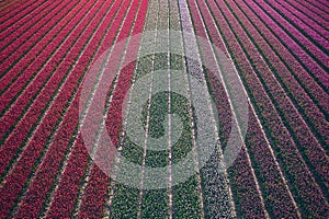
<svg viewBox="0 0 329 219"><path fill-rule="evenodd" d="M100 44L103 41L105 31L109 31L109 23L113 21L113 12L111 10L117 10L118 5L112 7L103 7L103 10L106 10L106 15L103 15L102 11L99 13L98 16L95 16L94 22L101 21L98 25L97 23L91 23L91 26L95 26L91 42L88 43L87 49L83 51L83 54L79 57L79 60L84 60L87 57L94 57L97 53L99 53ZM111 10L110 10L111 9ZM92 25L94 24L94 25ZM80 35L82 38L83 35ZM88 36L88 35L87 35ZM78 60L78 61L79 61ZM77 65L77 67L71 71L71 74L86 72L87 64L88 66L91 64L92 58L90 58L89 61L82 62L81 65ZM79 68L78 68L79 67ZM82 80L82 76L80 76L79 82ZM73 82L71 83L75 84ZM76 88L78 90L78 88ZM77 92L77 91L76 91ZM72 92L73 93L73 92ZM70 92L68 92L69 95L72 95ZM60 125L59 129L56 131L56 136L54 138L54 143L49 147L46 157L43 159L43 163L37 170L37 174L34 177L32 184L30 185L30 188L26 193L26 196L24 197L24 200L21 203L21 208L18 211L16 216L23 217L31 214L38 214L41 208L43 207L43 201L46 197L46 195L49 193L49 189L54 185L54 177L58 173L58 169L60 168L63 163L63 159L66 155L66 153L69 151L68 147L69 143L72 140L72 135L77 130L77 123L78 123L78 101L79 96L72 96L75 97L73 103L69 106L68 111L65 114L63 124ZM56 157L54 155L56 154ZM79 159L79 162L83 161ZM43 181L42 178L47 178L47 181ZM55 182L56 183L56 182ZM31 200L34 200L33 204L31 204ZM37 215L36 215L37 216Z"/></svg>

